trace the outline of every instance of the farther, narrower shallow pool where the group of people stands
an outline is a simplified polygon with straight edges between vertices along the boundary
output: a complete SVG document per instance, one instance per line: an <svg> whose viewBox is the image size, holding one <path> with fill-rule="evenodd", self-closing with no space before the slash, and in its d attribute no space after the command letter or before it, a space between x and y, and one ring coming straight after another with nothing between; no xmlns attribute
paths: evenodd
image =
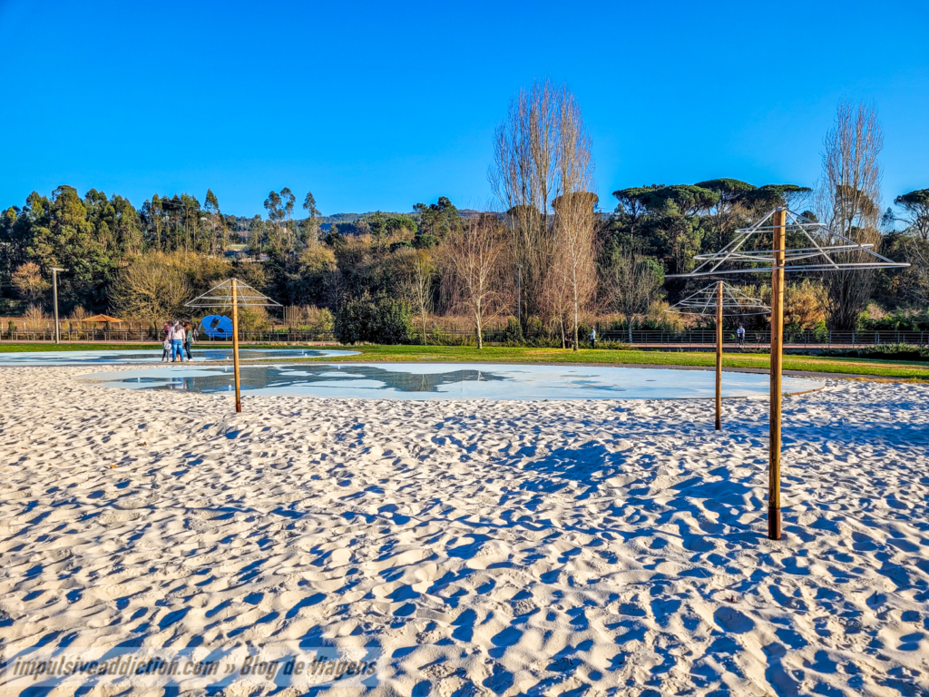
<svg viewBox="0 0 929 697"><path fill-rule="evenodd" d="M232 349L207 349L194 346L193 362L231 361ZM239 349L240 361L280 358L329 358L357 356L358 351L334 349ZM23 351L0 353L0 366L4 365L84 365L85 363L157 363L162 360L162 349L134 349L108 351ZM187 362L187 354L185 354Z"/></svg>

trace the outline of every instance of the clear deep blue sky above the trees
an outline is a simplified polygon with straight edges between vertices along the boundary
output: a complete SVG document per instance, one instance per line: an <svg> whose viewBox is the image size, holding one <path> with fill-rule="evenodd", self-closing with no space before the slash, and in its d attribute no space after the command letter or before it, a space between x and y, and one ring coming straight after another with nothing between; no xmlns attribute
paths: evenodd
<svg viewBox="0 0 929 697"><path fill-rule="evenodd" d="M207 187L264 213L493 206L519 87L567 83L601 207L646 183L811 184L840 100L873 99L884 204L929 188L929 2L0 0L0 205L70 184Z"/></svg>

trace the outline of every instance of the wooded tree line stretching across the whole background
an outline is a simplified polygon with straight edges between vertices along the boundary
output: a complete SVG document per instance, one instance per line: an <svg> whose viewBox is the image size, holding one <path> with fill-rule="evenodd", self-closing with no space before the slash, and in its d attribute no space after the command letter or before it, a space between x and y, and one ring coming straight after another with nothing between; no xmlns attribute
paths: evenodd
<svg viewBox="0 0 929 697"><path fill-rule="evenodd" d="M495 131L495 211L460 211L440 197L321 230L312 193L298 199L287 187L268 193L264 217L242 221L209 190L203 204L156 194L137 209L118 194L60 186L0 211L0 300L7 311L15 301L47 308L56 266L68 269L59 277L65 316L110 311L156 323L235 274L284 305L329 311L348 341L428 341L427 318L457 316L478 343L481 329L509 322L515 341L577 347L593 318L629 331L661 322L662 303L700 287L665 274L693 270L695 256L788 206L912 265L792 281L789 321L853 329L889 312L925 322L929 190L883 209L882 147L874 108L843 104L813 185L653 183L614 191L605 212L581 107L567 87L543 81L517 94ZM764 280L755 290L764 295Z"/></svg>

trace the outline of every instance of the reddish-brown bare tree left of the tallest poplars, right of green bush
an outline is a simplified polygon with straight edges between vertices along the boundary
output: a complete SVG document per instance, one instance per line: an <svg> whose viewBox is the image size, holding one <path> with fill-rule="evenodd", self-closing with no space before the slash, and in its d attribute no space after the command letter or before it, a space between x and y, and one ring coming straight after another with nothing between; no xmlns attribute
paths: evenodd
<svg viewBox="0 0 929 697"><path fill-rule="evenodd" d="M446 252L458 303L474 320L478 349L484 348L483 329L502 306L497 291L503 241L495 217L469 217L447 238Z"/></svg>

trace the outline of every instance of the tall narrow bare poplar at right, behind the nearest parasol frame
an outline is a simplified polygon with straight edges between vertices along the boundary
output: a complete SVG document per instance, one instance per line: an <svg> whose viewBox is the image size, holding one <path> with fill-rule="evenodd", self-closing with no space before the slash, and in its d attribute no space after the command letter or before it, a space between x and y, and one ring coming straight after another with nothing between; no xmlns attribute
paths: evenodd
<svg viewBox="0 0 929 697"><path fill-rule="evenodd" d="M815 207L820 222L857 243L881 243L881 164L883 134L872 104L840 104L835 125L826 135L823 174ZM830 242L831 243L831 242ZM867 253L843 253L843 261L866 262ZM824 303L836 329L855 329L868 306L874 270L841 270L822 274Z"/></svg>

